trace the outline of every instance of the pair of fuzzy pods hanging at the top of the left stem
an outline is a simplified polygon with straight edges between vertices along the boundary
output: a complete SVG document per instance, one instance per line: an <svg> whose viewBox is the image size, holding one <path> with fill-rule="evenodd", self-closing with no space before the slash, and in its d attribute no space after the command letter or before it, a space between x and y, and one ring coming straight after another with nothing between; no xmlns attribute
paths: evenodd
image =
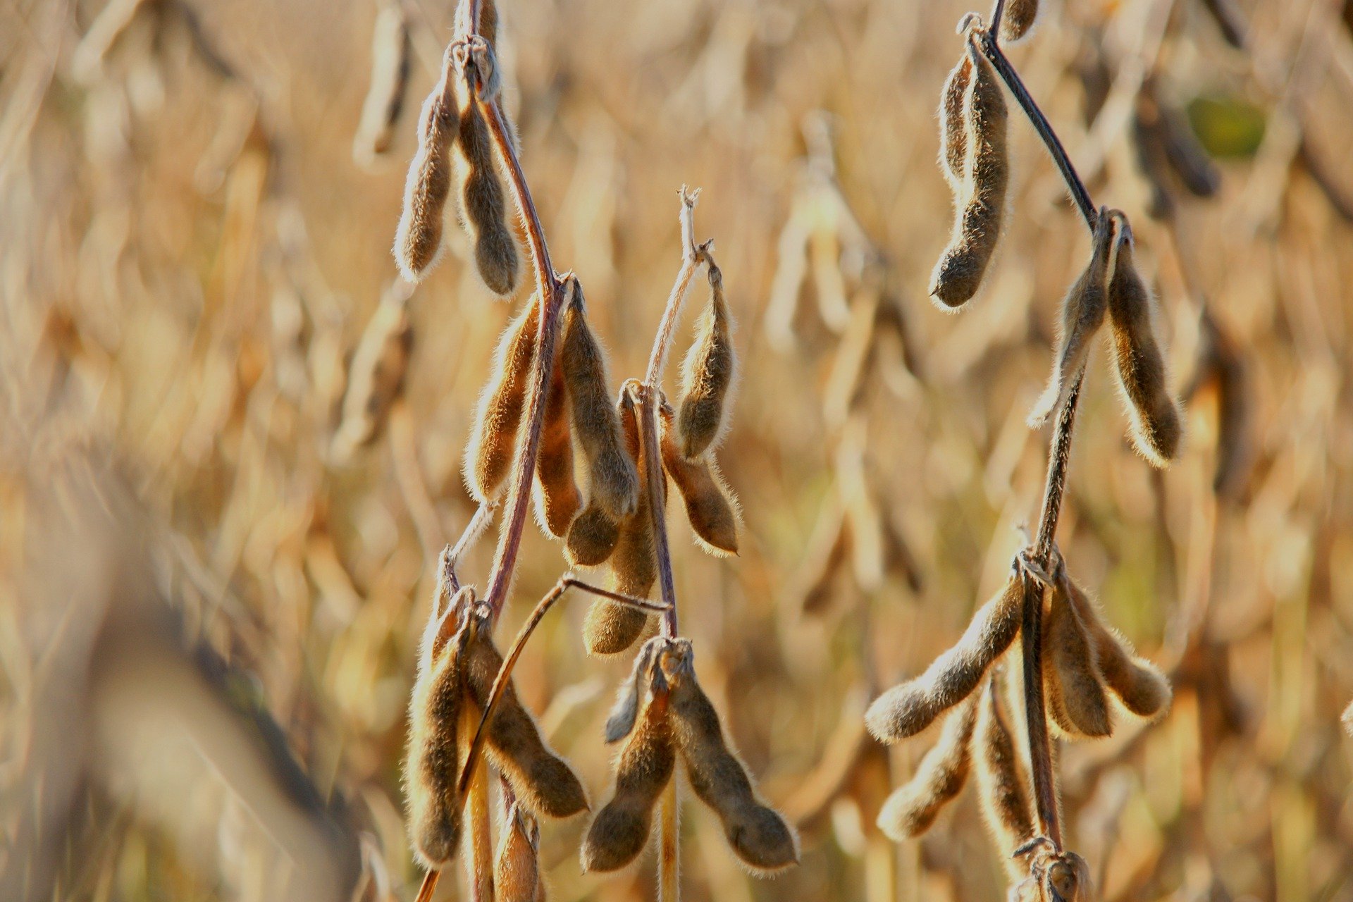
<svg viewBox="0 0 1353 902"><path fill-rule="evenodd" d="M446 200L455 185L479 276L491 292L509 298L520 283L521 250L494 149L494 128L510 131L497 103L497 28L498 11L486 0L479 34L446 47L441 78L418 118L418 150L409 165L394 254L406 280L426 276L441 254Z"/></svg>

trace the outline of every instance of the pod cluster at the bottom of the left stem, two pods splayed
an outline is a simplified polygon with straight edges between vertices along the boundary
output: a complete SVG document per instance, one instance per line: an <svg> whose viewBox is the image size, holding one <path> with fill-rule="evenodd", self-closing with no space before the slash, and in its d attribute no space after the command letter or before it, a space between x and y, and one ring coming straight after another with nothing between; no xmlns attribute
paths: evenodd
<svg viewBox="0 0 1353 902"><path fill-rule="evenodd" d="M456 853L460 769L503 663L490 632L490 611L469 587L452 594L442 564L410 701L405 759L409 829L428 868L445 867ZM582 783L544 741L510 680L486 736L488 759L511 786L528 837L533 824L528 815L566 818L587 809ZM506 830L499 857L520 861L525 852L509 848L511 841Z"/></svg>

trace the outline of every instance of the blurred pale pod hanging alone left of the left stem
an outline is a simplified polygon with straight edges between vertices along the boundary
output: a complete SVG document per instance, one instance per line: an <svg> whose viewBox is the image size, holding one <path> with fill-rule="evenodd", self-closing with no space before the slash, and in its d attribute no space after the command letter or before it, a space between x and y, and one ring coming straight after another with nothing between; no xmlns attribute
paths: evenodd
<svg viewBox="0 0 1353 902"><path fill-rule="evenodd" d="M352 356L342 419L333 442L340 456L350 454L380 435L390 408L403 389L413 343L409 311L403 300L387 292Z"/></svg>

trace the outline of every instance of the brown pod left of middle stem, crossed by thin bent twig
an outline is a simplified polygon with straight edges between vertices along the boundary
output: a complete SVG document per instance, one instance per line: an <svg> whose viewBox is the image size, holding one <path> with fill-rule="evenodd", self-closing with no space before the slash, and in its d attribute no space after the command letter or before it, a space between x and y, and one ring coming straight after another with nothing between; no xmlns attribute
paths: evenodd
<svg viewBox="0 0 1353 902"><path fill-rule="evenodd" d="M639 461L639 479L647 479L647 461L639 440L639 410L621 391L620 423L626 454ZM620 523L616 550L609 559L610 588L632 598L648 598L658 579L658 550L653 545L653 519L648 492L639 492L639 507ZM583 619L583 642L590 655L618 655L635 644L648 625L648 614L628 604L598 598Z"/></svg>

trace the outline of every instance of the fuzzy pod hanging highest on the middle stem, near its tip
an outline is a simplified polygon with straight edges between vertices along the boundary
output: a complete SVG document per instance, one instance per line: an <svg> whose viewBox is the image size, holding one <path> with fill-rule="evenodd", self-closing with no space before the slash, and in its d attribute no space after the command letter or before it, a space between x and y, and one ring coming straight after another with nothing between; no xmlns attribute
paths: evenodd
<svg viewBox="0 0 1353 902"><path fill-rule="evenodd" d="M681 453L695 460L717 448L728 430L732 387L737 379L733 318L724 300L724 273L709 264L709 307L695 327L695 343L682 364L682 399L676 417Z"/></svg>

